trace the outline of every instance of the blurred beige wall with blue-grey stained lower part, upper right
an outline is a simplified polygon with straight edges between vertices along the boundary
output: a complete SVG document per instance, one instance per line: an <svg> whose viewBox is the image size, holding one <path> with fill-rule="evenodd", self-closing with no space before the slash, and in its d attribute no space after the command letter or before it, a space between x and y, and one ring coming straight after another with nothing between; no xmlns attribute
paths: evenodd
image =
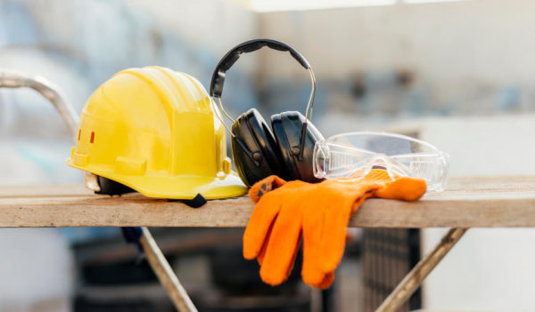
<svg viewBox="0 0 535 312"><path fill-rule="evenodd" d="M317 105L325 112L493 115L535 112L533 15L530 0L269 12L260 14L260 34L292 45L309 60L320 92ZM309 88L292 58L267 51L261 57L266 92L280 92L280 84L293 85L293 92ZM389 86L399 71L412 73L412 84ZM369 84L364 99L351 94L357 76Z"/></svg>

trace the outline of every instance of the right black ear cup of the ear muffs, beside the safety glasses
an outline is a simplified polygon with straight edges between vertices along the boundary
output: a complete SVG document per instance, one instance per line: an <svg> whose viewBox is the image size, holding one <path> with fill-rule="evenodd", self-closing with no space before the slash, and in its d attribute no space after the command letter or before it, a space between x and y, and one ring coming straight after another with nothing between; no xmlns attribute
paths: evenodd
<svg viewBox="0 0 535 312"><path fill-rule="evenodd" d="M309 183L317 183L321 180L314 176L313 172L313 151L318 140L324 140L314 124L307 125L305 132L305 144L303 150L303 160L299 160L300 141L305 123L305 116L299 112L284 112L271 116L271 125L276 138L276 145L279 148L281 163L286 172L286 180L303 180Z"/></svg>

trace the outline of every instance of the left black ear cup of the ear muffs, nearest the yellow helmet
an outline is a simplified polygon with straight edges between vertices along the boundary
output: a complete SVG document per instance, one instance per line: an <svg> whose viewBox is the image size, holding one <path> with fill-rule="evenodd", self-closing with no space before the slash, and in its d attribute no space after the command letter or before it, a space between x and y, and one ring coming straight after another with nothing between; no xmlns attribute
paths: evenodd
<svg viewBox="0 0 535 312"><path fill-rule="evenodd" d="M248 187L274 174L285 179L275 137L258 110L252 108L239 116L232 125L232 132L253 155L257 154L259 157L257 165L243 148L232 140L236 171Z"/></svg>

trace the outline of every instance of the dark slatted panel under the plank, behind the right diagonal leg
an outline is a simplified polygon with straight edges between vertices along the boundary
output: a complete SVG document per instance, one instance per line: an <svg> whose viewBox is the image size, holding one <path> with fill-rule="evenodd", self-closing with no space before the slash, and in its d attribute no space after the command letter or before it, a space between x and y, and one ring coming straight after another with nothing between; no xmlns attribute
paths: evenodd
<svg viewBox="0 0 535 312"><path fill-rule="evenodd" d="M374 312L420 260L420 230L366 228L362 243L364 311ZM399 312L422 308L418 289Z"/></svg>

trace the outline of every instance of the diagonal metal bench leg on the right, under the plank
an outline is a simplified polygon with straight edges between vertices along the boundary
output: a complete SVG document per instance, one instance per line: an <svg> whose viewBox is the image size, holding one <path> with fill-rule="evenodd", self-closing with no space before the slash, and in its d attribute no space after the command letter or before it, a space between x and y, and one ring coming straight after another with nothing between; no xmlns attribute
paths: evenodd
<svg viewBox="0 0 535 312"><path fill-rule="evenodd" d="M439 244L434 246L422 260L416 264L405 278L398 284L396 289L383 301L383 304L375 312L396 312L412 296L416 289L424 282L425 277L440 263L448 252L465 235L468 228L450 228L446 235L442 236Z"/></svg>

